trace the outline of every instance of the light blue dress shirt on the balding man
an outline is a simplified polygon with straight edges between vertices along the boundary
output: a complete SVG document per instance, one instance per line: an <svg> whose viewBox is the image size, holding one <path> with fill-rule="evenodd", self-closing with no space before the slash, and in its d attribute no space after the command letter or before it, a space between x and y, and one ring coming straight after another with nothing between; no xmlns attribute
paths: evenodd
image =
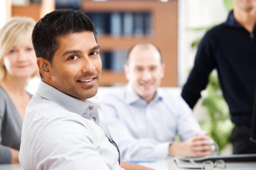
<svg viewBox="0 0 256 170"><path fill-rule="evenodd" d="M203 133L192 111L180 95L158 88L146 103L130 84L101 100L110 133L119 146L121 159L162 159L176 135L182 141Z"/></svg>

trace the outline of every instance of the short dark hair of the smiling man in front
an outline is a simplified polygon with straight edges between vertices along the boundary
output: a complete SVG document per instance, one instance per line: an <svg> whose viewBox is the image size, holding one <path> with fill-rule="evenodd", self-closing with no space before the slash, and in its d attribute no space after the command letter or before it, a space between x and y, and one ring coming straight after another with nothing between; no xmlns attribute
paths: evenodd
<svg viewBox="0 0 256 170"><path fill-rule="evenodd" d="M36 23L32 33L36 57L45 58L52 64L52 57L59 48L57 38L83 31L92 32L97 42L95 26L81 11L58 9L46 14ZM43 78L41 73L40 76Z"/></svg>

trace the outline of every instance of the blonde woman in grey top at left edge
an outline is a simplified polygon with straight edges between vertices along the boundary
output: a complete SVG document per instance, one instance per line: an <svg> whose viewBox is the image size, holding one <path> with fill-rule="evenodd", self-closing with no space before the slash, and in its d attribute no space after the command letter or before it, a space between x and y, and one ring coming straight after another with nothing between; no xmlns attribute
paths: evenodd
<svg viewBox="0 0 256 170"><path fill-rule="evenodd" d="M0 163L18 163L25 108L31 95L25 91L37 71L31 41L35 21L13 17L0 30Z"/></svg>

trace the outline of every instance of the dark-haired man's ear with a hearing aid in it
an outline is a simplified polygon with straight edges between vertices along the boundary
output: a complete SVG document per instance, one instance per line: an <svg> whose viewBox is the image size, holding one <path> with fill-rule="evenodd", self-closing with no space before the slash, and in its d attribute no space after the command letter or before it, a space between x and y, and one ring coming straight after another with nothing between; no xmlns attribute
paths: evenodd
<svg viewBox="0 0 256 170"><path fill-rule="evenodd" d="M36 60L37 66L39 68L40 73L45 77L48 78L51 76L51 63L42 57L37 58Z"/></svg>

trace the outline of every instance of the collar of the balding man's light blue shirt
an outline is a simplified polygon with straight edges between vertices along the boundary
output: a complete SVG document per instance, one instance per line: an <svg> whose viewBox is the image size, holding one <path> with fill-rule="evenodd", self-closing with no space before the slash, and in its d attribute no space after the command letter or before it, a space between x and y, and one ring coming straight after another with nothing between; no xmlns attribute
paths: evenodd
<svg viewBox="0 0 256 170"><path fill-rule="evenodd" d="M127 84L126 86L126 90L125 90L125 94L124 94L124 99L125 102L127 104L132 104L135 102L139 102L139 101L143 101L145 102L145 100L143 100L133 89L132 85L130 83ZM156 95L154 97L154 99L151 102L156 102L158 100L163 100L164 98L164 93L162 90L160 90L159 88L157 88L156 90ZM146 102L145 102L146 103Z"/></svg>

